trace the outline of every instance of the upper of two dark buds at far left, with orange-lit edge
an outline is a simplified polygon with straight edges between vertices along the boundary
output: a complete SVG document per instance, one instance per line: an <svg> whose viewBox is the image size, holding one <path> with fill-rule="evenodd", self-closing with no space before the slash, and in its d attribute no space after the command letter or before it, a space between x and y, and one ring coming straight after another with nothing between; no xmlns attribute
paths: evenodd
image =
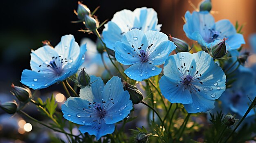
<svg viewBox="0 0 256 143"><path fill-rule="evenodd" d="M14 84L11 84L11 93L21 102L26 102L32 97L29 88L14 86Z"/></svg>

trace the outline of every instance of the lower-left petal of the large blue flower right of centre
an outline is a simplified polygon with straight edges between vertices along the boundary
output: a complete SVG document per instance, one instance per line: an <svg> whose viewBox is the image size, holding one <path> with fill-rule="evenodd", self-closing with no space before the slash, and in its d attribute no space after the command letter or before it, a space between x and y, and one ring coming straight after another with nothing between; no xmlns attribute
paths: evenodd
<svg viewBox="0 0 256 143"><path fill-rule="evenodd" d="M165 75L159 80L159 88L168 101L171 103L192 103L192 97L189 90L182 89L182 86L176 87L176 82L173 82Z"/></svg>

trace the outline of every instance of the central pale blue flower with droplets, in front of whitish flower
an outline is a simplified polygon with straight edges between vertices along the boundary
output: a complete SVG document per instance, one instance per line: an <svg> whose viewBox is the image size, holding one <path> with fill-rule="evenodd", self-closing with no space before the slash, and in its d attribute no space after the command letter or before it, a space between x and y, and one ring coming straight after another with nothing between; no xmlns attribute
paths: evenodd
<svg viewBox="0 0 256 143"><path fill-rule="evenodd" d="M124 65L132 65L124 73L131 79L142 81L159 75L161 65L176 48L168 36L159 31L132 29L124 34L122 42L115 43L115 57Z"/></svg>

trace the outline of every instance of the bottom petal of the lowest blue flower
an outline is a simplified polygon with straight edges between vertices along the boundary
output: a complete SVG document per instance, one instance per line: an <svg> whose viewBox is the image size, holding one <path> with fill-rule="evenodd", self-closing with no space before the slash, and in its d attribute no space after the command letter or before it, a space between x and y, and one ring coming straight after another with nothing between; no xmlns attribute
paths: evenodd
<svg viewBox="0 0 256 143"><path fill-rule="evenodd" d="M88 132L88 134L96 136L96 139L99 140L101 136L112 134L115 131L115 124L94 123L93 125L83 125L79 127L79 130L83 134Z"/></svg>

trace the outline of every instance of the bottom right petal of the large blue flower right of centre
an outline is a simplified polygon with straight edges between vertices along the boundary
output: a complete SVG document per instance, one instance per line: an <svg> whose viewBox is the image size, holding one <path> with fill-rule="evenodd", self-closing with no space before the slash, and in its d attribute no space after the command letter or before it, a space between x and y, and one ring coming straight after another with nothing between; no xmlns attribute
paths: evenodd
<svg viewBox="0 0 256 143"><path fill-rule="evenodd" d="M188 113L206 112L214 108L214 100L206 99L198 94L193 94L191 104L183 104Z"/></svg>

